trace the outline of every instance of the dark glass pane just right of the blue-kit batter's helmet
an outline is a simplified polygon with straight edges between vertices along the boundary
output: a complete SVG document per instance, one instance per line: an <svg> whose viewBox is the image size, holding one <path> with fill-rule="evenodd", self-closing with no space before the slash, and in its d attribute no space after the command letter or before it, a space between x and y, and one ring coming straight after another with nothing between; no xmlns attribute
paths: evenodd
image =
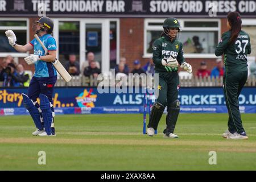
<svg viewBox="0 0 256 182"><path fill-rule="evenodd" d="M59 57L65 62L69 55L80 55L80 22L59 22Z"/></svg>

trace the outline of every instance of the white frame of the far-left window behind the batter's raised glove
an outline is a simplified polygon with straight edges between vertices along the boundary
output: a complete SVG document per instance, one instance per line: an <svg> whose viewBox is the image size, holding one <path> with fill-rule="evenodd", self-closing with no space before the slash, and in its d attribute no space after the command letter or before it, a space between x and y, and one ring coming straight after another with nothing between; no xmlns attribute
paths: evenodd
<svg viewBox="0 0 256 182"><path fill-rule="evenodd" d="M15 30L26 30L27 32L27 43L30 42L30 22L28 18L5 18L3 21L26 21L27 26L0 26L0 30L13 30L15 33ZM7 38L6 38L7 39ZM18 40L19 38L17 38ZM13 57L27 57L29 52L0 52L0 57L6 57L8 55L11 55Z"/></svg>

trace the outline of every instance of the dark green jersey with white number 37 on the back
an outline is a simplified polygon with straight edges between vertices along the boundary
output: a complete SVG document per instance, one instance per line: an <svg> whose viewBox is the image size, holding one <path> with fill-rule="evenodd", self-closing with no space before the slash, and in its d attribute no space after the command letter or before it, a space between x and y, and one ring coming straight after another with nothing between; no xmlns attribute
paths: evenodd
<svg viewBox="0 0 256 182"><path fill-rule="evenodd" d="M215 50L216 56L224 53L226 71L247 71L247 54L251 53L250 36L245 31L240 31L233 43L228 43L231 31L224 32Z"/></svg>

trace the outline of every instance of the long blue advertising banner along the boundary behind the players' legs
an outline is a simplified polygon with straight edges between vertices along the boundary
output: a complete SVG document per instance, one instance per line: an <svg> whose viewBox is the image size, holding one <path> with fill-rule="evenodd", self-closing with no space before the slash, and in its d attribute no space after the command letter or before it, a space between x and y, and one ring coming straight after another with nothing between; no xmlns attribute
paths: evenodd
<svg viewBox="0 0 256 182"><path fill-rule="evenodd" d="M97 88L55 88L53 106L56 114L143 113L141 91L118 94L98 93ZM0 115L28 114L22 93L27 89L0 88ZM154 100L154 96L148 98ZM227 112L222 88L180 88L179 100L181 113ZM244 88L239 101L241 113L256 113L255 88Z"/></svg>

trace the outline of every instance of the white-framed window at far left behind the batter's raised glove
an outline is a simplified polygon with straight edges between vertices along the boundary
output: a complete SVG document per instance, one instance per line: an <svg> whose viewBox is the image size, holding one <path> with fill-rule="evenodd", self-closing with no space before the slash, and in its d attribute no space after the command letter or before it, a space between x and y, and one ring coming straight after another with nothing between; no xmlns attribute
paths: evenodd
<svg viewBox="0 0 256 182"><path fill-rule="evenodd" d="M6 30L13 30L16 38L17 38L17 44L25 45L28 43L28 35L29 28L27 27L28 20L22 19L22 20L0 20L0 54L2 56L13 55L13 56L26 56L27 53L19 53L16 51L13 47L10 46L8 39L6 38L5 31Z"/></svg>

